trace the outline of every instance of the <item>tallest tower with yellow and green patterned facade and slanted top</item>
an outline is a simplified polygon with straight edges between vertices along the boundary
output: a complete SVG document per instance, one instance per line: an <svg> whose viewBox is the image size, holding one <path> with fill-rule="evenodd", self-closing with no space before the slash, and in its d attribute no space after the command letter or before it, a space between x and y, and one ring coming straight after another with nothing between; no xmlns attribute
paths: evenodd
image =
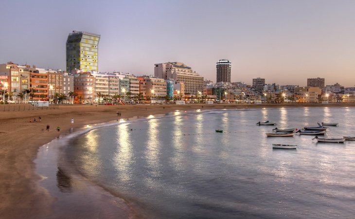
<svg viewBox="0 0 355 219"><path fill-rule="evenodd" d="M67 39L67 72L80 69L84 72L98 71L100 35L73 31Z"/></svg>

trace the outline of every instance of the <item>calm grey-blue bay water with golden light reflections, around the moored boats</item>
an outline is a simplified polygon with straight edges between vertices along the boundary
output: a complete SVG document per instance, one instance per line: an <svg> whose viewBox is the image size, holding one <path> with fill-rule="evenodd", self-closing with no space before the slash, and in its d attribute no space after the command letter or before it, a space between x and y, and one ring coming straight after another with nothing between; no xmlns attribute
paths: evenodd
<svg viewBox="0 0 355 219"><path fill-rule="evenodd" d="M266 120L277 125L256 125ZM355 142L266 137L317 122L339 123L326 137L355 136L354 108L177 110L82 128L57 140L56 156L43 146L36 164L56 211L78 217L101 205L97 217L120 218L109 213L120 197L143 218L354 218ZM95 196L83 196L87 184Z"/></svg>

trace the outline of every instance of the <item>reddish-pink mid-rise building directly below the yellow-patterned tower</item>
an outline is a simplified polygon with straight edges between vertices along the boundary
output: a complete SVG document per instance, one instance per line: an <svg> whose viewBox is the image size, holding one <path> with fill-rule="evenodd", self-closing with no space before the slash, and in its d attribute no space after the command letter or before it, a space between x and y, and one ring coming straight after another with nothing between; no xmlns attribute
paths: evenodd
<svg viewBox="0 0 355 219"><path fill-rule="evenodd" d="M94 98L94 76L90 72L74 74L74 92L78 95L74 103L92 103Z"/></svg>

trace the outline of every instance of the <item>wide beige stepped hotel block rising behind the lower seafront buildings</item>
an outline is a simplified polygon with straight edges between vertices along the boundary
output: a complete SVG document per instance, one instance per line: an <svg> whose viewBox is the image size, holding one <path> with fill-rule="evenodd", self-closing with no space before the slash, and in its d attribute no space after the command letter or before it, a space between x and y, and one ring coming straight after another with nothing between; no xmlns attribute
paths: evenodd
<svg viewBox="0 0 355 219"><path fill-rule="evenodd" d="M196 94L203 91L203 77L182 62L155 64L154 76L184 82L185 93Z"/></svg>

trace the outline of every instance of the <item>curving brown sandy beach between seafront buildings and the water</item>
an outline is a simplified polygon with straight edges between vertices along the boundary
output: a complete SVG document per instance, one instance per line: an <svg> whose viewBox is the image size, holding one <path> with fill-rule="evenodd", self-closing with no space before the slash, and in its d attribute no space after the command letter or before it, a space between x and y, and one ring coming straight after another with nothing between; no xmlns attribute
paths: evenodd
<svg viewBox="0 0 355 219"><path fill-rule="evenodd" d="M0 218L46 218L55 200L38 185L34 160L38 148L69 132L71 118L74 128L113 121L118 118L163 114L173 110L293 108L293 107L354 107L345 104L267 104L267 105L74 105L58 109L4 111L0 105ZM14 105L12 105L14 106ZM117 115L121 113L121 116ZM41 122L39 122L41 117ZM33 122L36 119L36 122ZM32 122L30 122L32 120ZM257 121L252 121L257 122ZM49 125L49 131L46 126ZM56 130L60 127L60 132Z"/></svg>

